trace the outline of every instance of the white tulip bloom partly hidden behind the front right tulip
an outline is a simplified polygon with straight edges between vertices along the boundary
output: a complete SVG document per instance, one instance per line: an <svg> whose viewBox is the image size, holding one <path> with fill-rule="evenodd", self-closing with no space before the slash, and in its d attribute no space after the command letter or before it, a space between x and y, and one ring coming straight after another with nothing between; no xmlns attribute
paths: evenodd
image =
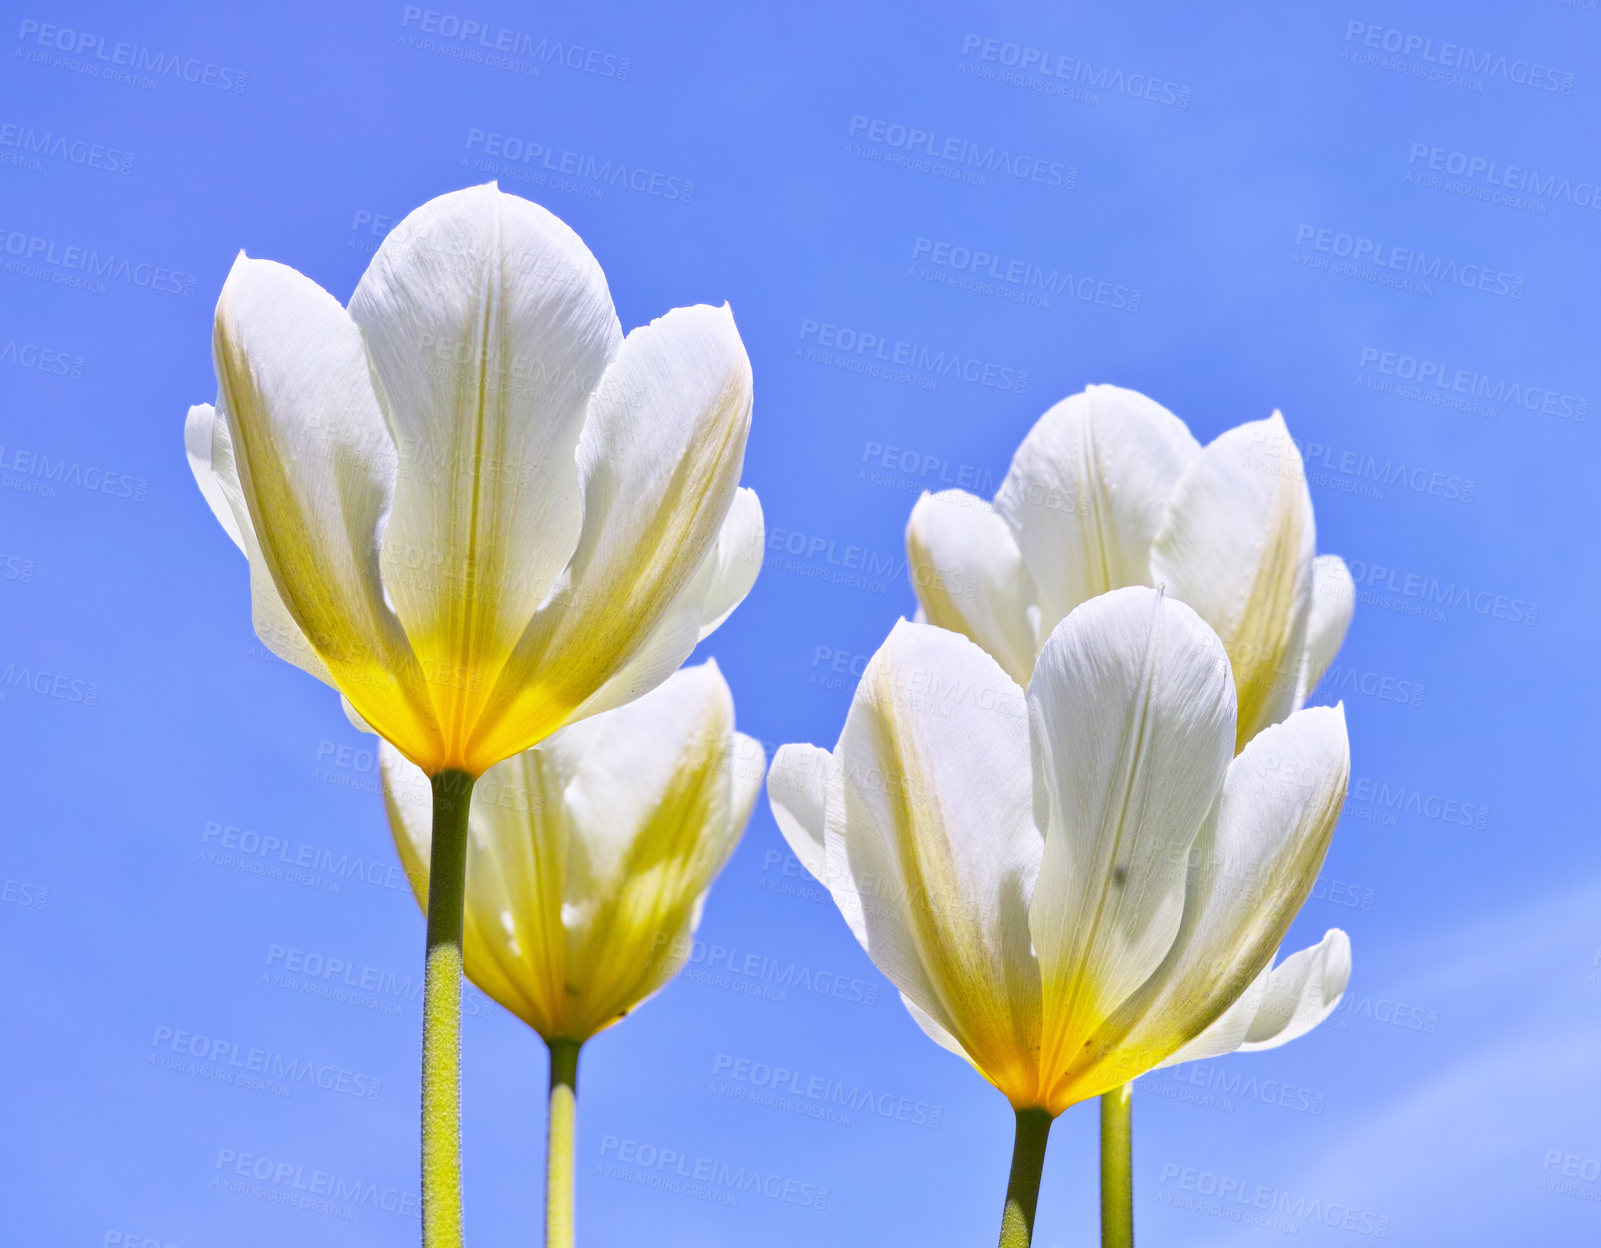
<svg viewBox="0 0 1601 1248"><path fill-rule="evenodd" d="M1117 386L1041 416L994 502L919 498L906 549L927 621L972 637L1020 683L1074 606L1164 586L1223 638L1236 749L1306 701L1354 603L1343 560L1314 555L1306 474L1279 413L1202 448L1161 403Z"/></svg>

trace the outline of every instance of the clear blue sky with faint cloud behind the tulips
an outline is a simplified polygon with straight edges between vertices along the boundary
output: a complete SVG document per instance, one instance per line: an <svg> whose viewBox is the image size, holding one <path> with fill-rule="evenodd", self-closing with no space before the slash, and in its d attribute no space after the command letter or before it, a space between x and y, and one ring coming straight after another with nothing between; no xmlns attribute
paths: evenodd
<svg viewBox="0 0 1601 1248"><path fill-rule="evenodd" d="M991 493L1089 382L1202 440L1282 410L1319 550L1362 582L1335 672L1353 795L1290 942L1346 928L1354 976L1313 1035L1143 1082L1142 1240L1595 1238L1593 5L290 0L6 22L10 1237L416 1238L423 923L371 741L253 638L181 426L213 397L240 248L346 299L387 222L500 178L583 235L624 326L733 307L775 550L703 648L768 749L833 744L861 656L913 611L924 485ZM973 146L1007 168L945 157ZM586 174L605 162L629 186ZM75 286L69 248L130 264ZM354 874L315 866L341 859ZM586 1050L583 1242L994 1235L1005 1104L818 896L759 810L704 960ZM751 954L849 989L752 992L722 970ZM467 1011L469 1235L532 1242L543 1046L482 997ZM251 1050L333 1086L219 1077ZM773 1106L778 1067L890 1112ZM1037 1243L1090 1242L1093 1147L1093 1107L1063 1115ZM671 1190L668 1154L812 1205ZM370 1198L290 1206L314 1173Z"/></svg>

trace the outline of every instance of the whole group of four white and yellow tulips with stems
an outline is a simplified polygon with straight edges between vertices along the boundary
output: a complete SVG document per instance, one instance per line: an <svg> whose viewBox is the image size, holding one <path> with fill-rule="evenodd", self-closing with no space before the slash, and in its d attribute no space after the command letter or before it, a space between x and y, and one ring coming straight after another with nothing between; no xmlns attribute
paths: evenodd
<svg viewBox="0 0 1601 1248"><path fill-rule="evenodd" d="M240 254L213 358L195 480L263 642L383 738L427 917L423 1242L463 1240L464 971L549 1046L570 1248L580 1050L682 966L762 782L716 662L682 667L762 563L733 315L624 336L578 235L492 184L405 218L349 306ZM1201 446L1114 386L1050 408L993 501L921 498L906 546L917 621L833 750L776 752L768 800L917 1026L1017 1112L1001 1243L1031 1240L1052 1122L1100 1096L1127 1245L1130 1082L1282 1045L1350 978L1338 930L1274 955L1345 800L1343 710L1302 704L1351 581L1278 413Z"/></svg>

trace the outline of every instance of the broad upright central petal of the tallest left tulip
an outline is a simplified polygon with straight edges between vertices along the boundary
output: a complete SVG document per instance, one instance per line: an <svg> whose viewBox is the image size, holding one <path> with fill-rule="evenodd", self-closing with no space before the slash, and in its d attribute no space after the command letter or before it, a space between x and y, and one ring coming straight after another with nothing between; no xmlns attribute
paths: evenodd
<svg viewBox="0 0 1601 1248"><path fill-rule="evenodd" d="M578 541L575 453L621 341L605 277L562 221L488 184L395 226L351 317L400 448L384 582L423 662L487 693Z"/></svg>

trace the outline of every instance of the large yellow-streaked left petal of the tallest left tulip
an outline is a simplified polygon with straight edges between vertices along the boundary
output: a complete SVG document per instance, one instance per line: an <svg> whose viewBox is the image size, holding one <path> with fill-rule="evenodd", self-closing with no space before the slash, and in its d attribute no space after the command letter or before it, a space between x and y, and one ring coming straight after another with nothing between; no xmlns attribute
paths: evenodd
<svg viewBox="0 0 1601 1248"><path fill-rule="evenodd" d="M360 330L317 283L240 254L213 355L250 531L279 597L362 717L427 755L439 736L429 691L378 573L395 448ZM219 480L221 459L213 434Z"/></svg>

